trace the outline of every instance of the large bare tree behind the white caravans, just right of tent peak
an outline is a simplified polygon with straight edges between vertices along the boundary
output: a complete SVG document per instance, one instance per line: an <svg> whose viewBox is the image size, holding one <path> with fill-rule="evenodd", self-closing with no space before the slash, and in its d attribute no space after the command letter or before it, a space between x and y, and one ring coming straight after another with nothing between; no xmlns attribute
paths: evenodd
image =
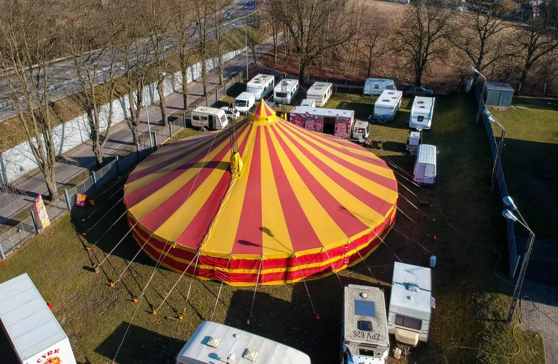
<svg viewBox="0 0 558 364"><path fill-rule="evenodd" d="M299 80L325 51L348 41L354 8L341 0L270 0L272 11L285 25L299 57Z"/></svg>

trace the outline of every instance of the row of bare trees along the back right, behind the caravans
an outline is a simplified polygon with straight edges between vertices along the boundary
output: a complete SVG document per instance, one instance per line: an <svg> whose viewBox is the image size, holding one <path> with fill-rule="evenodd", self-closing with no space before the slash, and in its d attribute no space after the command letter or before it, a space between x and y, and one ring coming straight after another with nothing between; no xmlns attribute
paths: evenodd
<svg viewBox="0 0 558 364"><path fill-rule="evenodd" d="M297 55L300 79L309 66L329 66L345 75L371 76L380 60L391 61L393 73L421 85L436 62L459 59L464 71L504 69L525 84L542 60L558 59L558 0L545 0L528 22L506 21L513 0L471 0L468 11L454 1L411 0L402 18L380 16L368 2L340 0L271 0L268 23L283 31ZM324 64L325 60L325 64ZM463 67L464 65L467 67ZM510 65L513 65L511 67Z"/></svg>

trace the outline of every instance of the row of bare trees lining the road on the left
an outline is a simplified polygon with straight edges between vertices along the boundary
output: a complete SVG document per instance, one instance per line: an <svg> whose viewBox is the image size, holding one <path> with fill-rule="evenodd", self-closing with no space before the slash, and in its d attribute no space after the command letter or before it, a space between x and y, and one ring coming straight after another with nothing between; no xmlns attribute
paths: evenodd
<svg viewBox="0 0 558 364"><path fill-rule="evenodd" d="M140 114L144 95L136 92L157 81L163 124L167 124L163 94L165 72L179 69L187 79L188 67L218 56L223 82L223 22L226 0L5 0L0 2L0 71L8 80L2 96L17 110L18 127L25 133L34 161L44 174L51 198L57 196L53 128L59 123L48 94L59 84L55 60L73 65L81 92L72 95L85 110L91 144L98 166L112 131L112 101L129 101L126 120L134 145L140 142ZM204 93L208 76L202 62ZM187 82L181 94L190 104ZM108 103L108 108L103 105Z"/></svg>

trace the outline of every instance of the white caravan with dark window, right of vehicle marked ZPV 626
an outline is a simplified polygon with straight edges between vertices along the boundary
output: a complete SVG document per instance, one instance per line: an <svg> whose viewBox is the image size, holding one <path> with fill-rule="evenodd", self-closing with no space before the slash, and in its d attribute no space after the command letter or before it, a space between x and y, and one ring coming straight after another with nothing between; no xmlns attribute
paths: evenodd
<svg viewBox="0 0 558 364"><path fill-rule="evenodd" d="M422 266L395 262L387 328L395 340L416 347L426 342L430 328L432 298L431 270Z"/></svg>

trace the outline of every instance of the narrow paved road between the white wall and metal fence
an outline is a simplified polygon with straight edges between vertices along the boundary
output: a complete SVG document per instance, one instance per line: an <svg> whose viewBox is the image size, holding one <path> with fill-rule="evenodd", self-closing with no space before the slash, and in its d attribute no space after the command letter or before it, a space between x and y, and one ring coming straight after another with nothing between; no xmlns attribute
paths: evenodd
<svg viewBox="0 0 558 364"><path fill-rule="evenodd" d="M273 50L273 42L271 40L267 40L263 42L260 47L261 51L258 51L259 54L271 52ZM248 57L249 60L252 60L250 54ZM225 64L225 78L238 74L238 72L243 70L244 67L246 67L246 55L243 53ZM209 94L211 94L211 90L217 88L217 85L219 84L219 74L217 70L213 70L209 72L209 75L209 82L211 84ZM190 100L200 98L201 95L203 95L203 85L201 84L201 79L191 82L189 90L191 96ZM167 113L182 113L184 109L182 95L177 93L171 94L167 96L166 101ZM150 106L148 108L148 112L152 130L154 128L162 128L162 126L159 126L162 123L162 119L158 106ZM143 114L141 118L141 125L139 127L140 133L147 133L146 120L145 114ZM132 145L132 133L124 122L113 127L109 138L110 139L104 148L104 153L107 157L122 154L122 148ZM60 162L56 163L56 179L58 181L58 186L68 186L68 182L71 181L71 179L81 173L84 173L85 171L93 169L94 167L95 157L89 143L84 143L74 149L71 149L71 151L64 154L64 158ZM22 192L0 193L0 225L16 225L18 221L16 221L14 217L26 210L29 210L32 206L33 199L38 193L47 193L47 188L40 172L30 172L26 176L20 178L15 184L18 188L21 188Z"/></svg>

